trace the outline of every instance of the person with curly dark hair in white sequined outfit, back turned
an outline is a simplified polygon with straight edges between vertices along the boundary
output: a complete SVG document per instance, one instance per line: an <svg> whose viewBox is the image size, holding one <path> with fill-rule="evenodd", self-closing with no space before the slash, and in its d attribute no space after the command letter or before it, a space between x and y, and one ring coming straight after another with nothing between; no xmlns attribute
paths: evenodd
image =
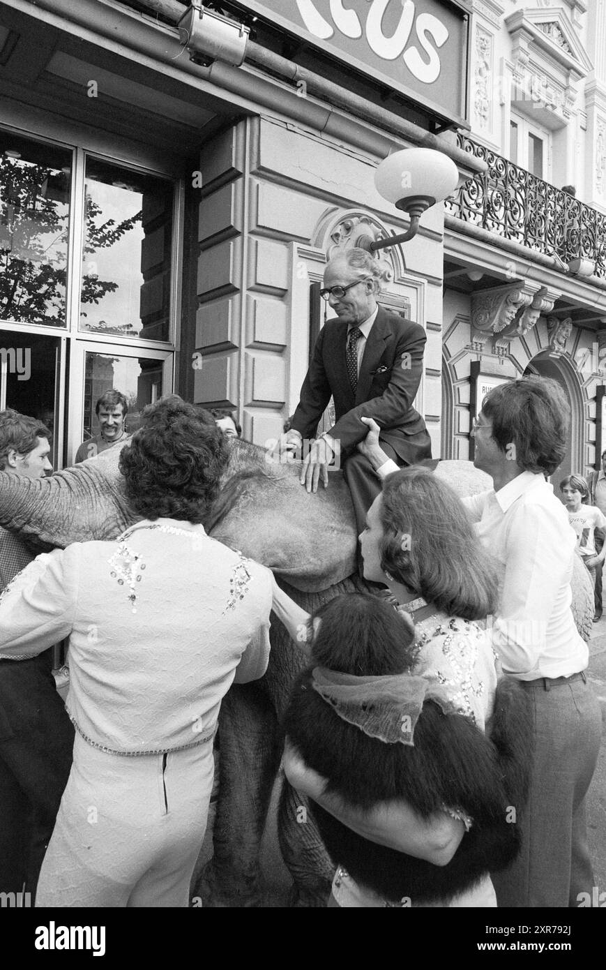
<svg viewBox="0 0 606 970"><path fill-rule="evenodd" d="M70 637L74 766L37 906L188 905L221 699L270 649L270 570L202 525L227 459L193 404L145 408L120 455L142 521L39 556L0 602L3 657Z"/></svg>

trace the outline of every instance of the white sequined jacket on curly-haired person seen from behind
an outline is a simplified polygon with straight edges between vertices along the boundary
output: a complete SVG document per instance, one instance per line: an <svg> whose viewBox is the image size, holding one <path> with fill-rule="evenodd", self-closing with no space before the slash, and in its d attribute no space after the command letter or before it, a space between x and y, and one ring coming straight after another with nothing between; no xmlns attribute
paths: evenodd
<svg viewBox="0 0 606 970"><path fill-rule="evenodd" d="M0 598L0 657L70 637L66 707L89 743L121 755L208 740L236 679L269 660L271 572L203 526L141 522L112 542L39 556Z"/></svg>

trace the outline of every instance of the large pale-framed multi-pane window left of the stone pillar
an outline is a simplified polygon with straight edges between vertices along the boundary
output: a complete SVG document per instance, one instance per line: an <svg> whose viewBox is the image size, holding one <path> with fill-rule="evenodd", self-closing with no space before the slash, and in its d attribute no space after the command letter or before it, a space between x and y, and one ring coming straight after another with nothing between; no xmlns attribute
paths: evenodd
<svg viewBox="0 0 606 970"><path fill-rule="evenodd" d="M173 390L182 190L137 157L0 130L0 407L53 426L56 467L104 391L132 432Z"/></svg>

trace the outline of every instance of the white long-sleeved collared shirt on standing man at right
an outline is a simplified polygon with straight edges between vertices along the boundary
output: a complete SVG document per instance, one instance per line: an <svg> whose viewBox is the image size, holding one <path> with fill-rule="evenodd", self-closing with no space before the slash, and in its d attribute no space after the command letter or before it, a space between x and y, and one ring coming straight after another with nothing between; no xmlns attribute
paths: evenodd
<svg viewBox="0 0 606 970"><path fill-rule="evenodd" d="M398 470L390 460L376 474ZM462 502L498 572L498 618L489 619L503 672L536 680L585 670L589 649L570 609L576 535L553 486L523 471Z"/></svg>

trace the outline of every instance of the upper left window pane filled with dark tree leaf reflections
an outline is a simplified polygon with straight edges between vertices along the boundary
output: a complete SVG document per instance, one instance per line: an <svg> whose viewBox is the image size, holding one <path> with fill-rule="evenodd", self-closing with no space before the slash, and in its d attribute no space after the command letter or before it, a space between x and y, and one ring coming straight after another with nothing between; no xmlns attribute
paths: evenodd
<svg viewBox="0 0 606 970"><path fill-rule="evenodd" d="M71 164L0 132L0 319L65 326Z"/></svg>

